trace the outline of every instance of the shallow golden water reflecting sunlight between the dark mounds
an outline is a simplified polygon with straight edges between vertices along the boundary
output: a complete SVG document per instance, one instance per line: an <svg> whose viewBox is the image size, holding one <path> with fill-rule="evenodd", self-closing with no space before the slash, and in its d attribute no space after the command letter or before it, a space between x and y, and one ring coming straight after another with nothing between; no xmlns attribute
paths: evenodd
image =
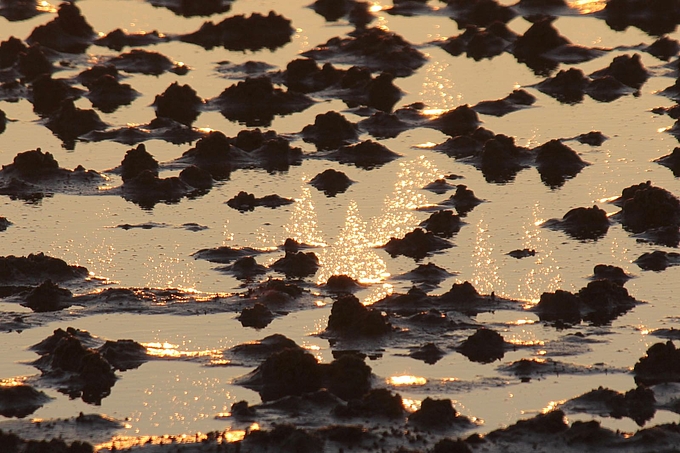
<svg viewBox="0 0 680 453"><path fill-rule="evenodd" d="M599 373L584 375L551 375L521 383L518 378L503 375L497 367L521 358L544 357L591 366L603 363L612 369L632 369L646 349L658 338L649 336L653 329L673 327L680 316L674 293L680 269L670 267L663 272L643 271L632 261L644 252L668 248L636 241L620 224L613 224L606 236L596 241L578 241L566 234L543 228L542 222L561 218L568 210L597 204L608 214L619 209L608 204L629 185L652 181L680 195L680 182L666 167L652 162L669 154L677 145L676 139L664 129L673 125L668 116L655 115L651 109L669 107L673 102L659 96L657 91L674 82L663 62L641 53L644 65L652 73L642 86L639 96L623 96L616 101L602 103L589 97L575 105L561 104L555 99L529 87L541 80L529 68L504 53L479 62L465 55L453 57L431 41L454 36L462 31L445 16L392 16L380 11L389 2L373 2L380 25L394 31L418 46L428 60L415 74L397 78L395 84L404 92L397 106L424 102L429 109L452 109L461 104L473 105L482 100L502 98L517 87L525 87L536 96L531 107L504 117L480 115L483 126L495 133L515 138L518 145L534 147L556 138L570 138L591 130L599 130L609 139L599 147L569 141L581 158L591 165L559 188L543 184L535 168L520 171L506 184L488 183L472 165L456 161L431 150L447 136L433 129L416 128L397 138L380 140L401 158L370 171L341 165L326 160L303 160L289 171L270 174L264 170L237 170L230 179L219 182L207 194L179 203L159 203L151 210L118 196L62 195L26 203L4 197L0 199L0 215L13 225L0 232L3 255L28 255L44 252L64 259L69 264L85 266L105 281L119 287L178 288L199 293L234 293L243 291L240 281L215 270L215 264L195 260L191 254L203 248L220 245L269 249L280 246L292 237L300 242L317 245L313 249L322 267L308 279L310 283L324 283L329 276L347 274L367 283L357 295L365 303L374 302L386 294L406 292L411 283L390 279L415 267L413 259L390 257L378 246L390 237L402 237L415 228L429 213L416 210L443 201L450 194L436 195L422 187L443 175L456 174L475 194L485 200L464 218L466 224L452 240L454 247L425 258L456 275L441 283L433 294L446 292L453 283L469 281L483 294L492 291L497 296L517 299L527 305L535 303L546 291L564 289L577 291L588 283L596 264L611 264L633 274L626 288L638 300L647 302L620 316L611 325L593 327L582 324L566 332L538 321L529 311L499 311L481 314L476 320L493 328L508 341L521 347L505 355L501 362L477 364L455 352L448 353L435 365L426 365L407 356L403 346L387 347L382 356L369 362L376 383L389 385L393 376L416 376L425 379L418 385L393 386L404 398L417 406L426 396L451 398L457 410L479 420L473 431L489 432L507 426L553 407L598 386L618 391L635 387L630 373ZM170 34L196 30L205 18L182 18L169 10L154 8L141 0L89 0L78 7L93 28L108 33L115 28L133 31L159 31ZM333 36L344 36L353 27L340 20L327 23L306 8L306 1L288 2L239 0L230 12L211 17L214 22L234 14L267 13L274 10L292 20L296 32L290 43L275 50L233 52L223 48L205 51L178 42L162 43L147 50L156 50L173 60L183 61L191 70L187 75L166 73L161 76L130 74L124 82L142 93L131 105L113 113L98 112L111 127L129 123L144 123L154 117L151 107L154 96L174 81L189 84L204 99L218 95L225 87L236 83L216 71L217 63L242 63L249 60L265 61L280 69L300 52L326 42ZM443 4L439 4L443 7ZM9 22L0 18L2 40L9 36L25 39L36 25L53 17L47 13L23 22ZM523 33L529 23L517 17L509 24ZM636 28L624 32L610 30L604 21L578 15L559 17L555 27L574 44L617 48L587 63L574 65L586 74L606 67L621 54L631 54L633 46L651 44L654 37ZM678 33L669 35L678 39ZM91 46L86 54L89 62L115 52ZM561 65L560 68L567 68ZM80 72L66 69L54 75L71 77ZM90 108L87 99L76 102ZM0 135L0 163L11 163L21 151L42 148L54 154L60 166L106 171L120 164L128 145L114 142L77 142L75 149L66 150L58 138L45 128L32 111L31 104L0 102L8 118L7 130ZM330 110L342 112L351 121L361 119L347 110L338 100L317 102L307 110L276 117L270 129L280 134L295 134L311 124L317 114ZM203 112L194 127L220 130L235 136L245 128L222 117L218 112ZM361 137L369 138L367 134ZM305 152L314 146L293 138L294 145ZM160 162L179 157L192 145L173 145L160 140L146 142L147 150ZM326 168L341 170L355 181L345 192L327 198L309 186L308 181ZM174 175L165 171L161 176ZM108 187L121 183L118 176L107 174ZM458 182L453 182L458 183ZM294 198L290 206L274 210L257 208L239 213L225 203L239 191L256 196L277 193ZM117 225L138 225L145 222L160 224L152 229L121 229ZM207 227L190 231L186 223ZM536 255L521 260L507 256L514 249L535 249ZM271 264L281 256L280 251L260 255L258 262ZM270 273L270 276L277 276ZM281 277L281 275L278 275ZM331 300L314 290L321 307L290 313L276 318L261 330L243 328L234 313L174 316L100 314L78 316L47 323L21 333L0 333L3 353L0 356L0 379L23 379L37 373L26 363L35 358L27 348L50 335L56 328L67 326L88 330L106 339L131 338L141 343L168 343L170 349L195 360L161 360L142 365L136 370L119 373L120 379L111 396L101 406L91 406L80 400L69 400L54 390L46 390L55 399L36 411L35 418L64 418L79 412L107 414L124 420L127 428L116 432L119 436L148 436L188 434L225 430L231 419L220 414L229 411L232 403L247 400L259 402L257 393L230 384L252 368L211 365L208 351L220 351L246 341L282 333L314 352L323 362L332 360L332 347L318 337L325 327ZM26 312L23 307L2 303L4 312ZM566 352L559 348L543 348L543 344L559 344L566 333L576 331L597 338L588 351ZM422 344L415 339L413 345ZM466 383L461 385L460 383ZM630 420L603 419L595 415L574 417L602 420L605 426L634 431ZM0 417L0 428L2 427ZM657 412L646 426L677 421L677 414Z"/></svg>

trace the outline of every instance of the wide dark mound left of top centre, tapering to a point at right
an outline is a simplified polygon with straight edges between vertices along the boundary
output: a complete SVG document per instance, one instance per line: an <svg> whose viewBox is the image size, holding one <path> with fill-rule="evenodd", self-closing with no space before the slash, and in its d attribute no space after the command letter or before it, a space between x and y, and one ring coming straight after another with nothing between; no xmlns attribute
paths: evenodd
<svg viewBox="0 0 680 453"><path fill-rule="evenodd" d="M225 118L246 126L268 126L275 115L301 112L313 103L305 94L275 88L268 76L247 77L209 101Z"/></svg>

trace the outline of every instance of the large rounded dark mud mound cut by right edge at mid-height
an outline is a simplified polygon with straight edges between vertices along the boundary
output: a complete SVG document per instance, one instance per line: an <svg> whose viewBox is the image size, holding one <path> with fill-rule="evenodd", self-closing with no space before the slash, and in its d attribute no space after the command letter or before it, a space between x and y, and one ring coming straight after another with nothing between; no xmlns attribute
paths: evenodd
<svg viewBox="0 0 680 453"><path fill-rule="evenodd" d="M633 233L680 224L680 200L649 181L625 188L615 203L622 208L621 223Z"/></svg>

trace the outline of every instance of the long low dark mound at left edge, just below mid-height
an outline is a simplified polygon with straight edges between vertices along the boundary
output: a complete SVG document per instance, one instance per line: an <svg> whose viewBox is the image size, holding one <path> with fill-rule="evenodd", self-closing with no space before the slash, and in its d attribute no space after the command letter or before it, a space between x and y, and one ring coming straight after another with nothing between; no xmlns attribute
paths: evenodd
<svg viewBox="0 0 680 453"><path fill-rule="evenodd" d="M0 282L2 284L41 284L46 280L65 282L84 279L89 275L86 268L66 264L59 258L43 253L24 256L0 257Z"/></svg>

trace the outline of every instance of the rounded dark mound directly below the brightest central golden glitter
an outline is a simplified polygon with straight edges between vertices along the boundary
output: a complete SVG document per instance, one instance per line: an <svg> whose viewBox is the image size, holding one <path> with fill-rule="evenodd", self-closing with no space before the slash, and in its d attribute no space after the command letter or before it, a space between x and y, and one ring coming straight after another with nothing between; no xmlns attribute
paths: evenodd
<svg viewBox="0 0 680 453"><path fill-rule="evenodd" d="M376 336L391 332L392 325L380 310L368 308L347 294L333 303L326 330L341 335Z"/></svg>

